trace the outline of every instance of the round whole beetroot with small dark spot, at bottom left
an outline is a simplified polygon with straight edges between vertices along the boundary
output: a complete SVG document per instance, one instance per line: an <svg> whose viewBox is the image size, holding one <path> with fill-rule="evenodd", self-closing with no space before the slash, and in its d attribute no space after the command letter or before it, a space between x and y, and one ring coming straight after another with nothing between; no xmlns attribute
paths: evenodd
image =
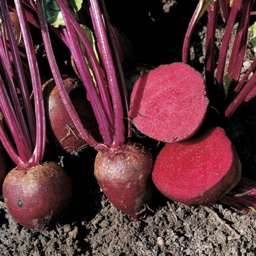
<svg viewBox="0 0 256 256"><path fill-rule="evenodd" d="M37 164L28 171L8 173L3 186L4 202L22 226L41 229L56 220L71 199L71 181L59 164Z"/></svg>

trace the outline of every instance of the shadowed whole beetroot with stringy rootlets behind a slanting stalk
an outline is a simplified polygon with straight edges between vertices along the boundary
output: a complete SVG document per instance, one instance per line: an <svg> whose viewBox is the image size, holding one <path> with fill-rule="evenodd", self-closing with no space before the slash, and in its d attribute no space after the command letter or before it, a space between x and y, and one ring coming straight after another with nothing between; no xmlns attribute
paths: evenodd
<svg viewBox="0 0 256 256"><path fill-rule="evenodd" d="M96 139L101 140L98 124L95 119L91 103L86 99L83 84L70 76L62 76L64 86L74 105L84 128ZM53 79L43 85L44 105L47 124L47 141L55 143L68 153L81 151L86 141L76 130L64 104L60 98L57 86Z"/></svg>

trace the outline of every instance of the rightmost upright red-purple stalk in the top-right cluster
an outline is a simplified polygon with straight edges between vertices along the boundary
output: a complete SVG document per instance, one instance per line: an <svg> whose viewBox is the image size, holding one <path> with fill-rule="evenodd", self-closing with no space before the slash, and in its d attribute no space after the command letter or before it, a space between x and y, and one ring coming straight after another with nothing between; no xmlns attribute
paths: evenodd
<svg viewBox="0 0 256 256"><path fill-rule="evenodd" d="M254 1L252 0L244 0L243 9L227 69L227 72L230 76L230 85L237 84L240 78L247 44L250 12L252 10L253 2Z"/></svg>

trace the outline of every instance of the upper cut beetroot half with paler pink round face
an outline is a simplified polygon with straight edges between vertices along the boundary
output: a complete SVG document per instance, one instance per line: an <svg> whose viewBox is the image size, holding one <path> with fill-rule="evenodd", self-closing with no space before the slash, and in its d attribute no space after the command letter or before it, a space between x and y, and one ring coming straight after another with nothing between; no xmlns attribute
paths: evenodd
<svg viewBox="0 0 256 256"><path fill-rule="evenodd" d="M202 75L187 64L173 63L138 79L131 95L130 116L147 136L176 142L198 131L208 105Z"/></svg>

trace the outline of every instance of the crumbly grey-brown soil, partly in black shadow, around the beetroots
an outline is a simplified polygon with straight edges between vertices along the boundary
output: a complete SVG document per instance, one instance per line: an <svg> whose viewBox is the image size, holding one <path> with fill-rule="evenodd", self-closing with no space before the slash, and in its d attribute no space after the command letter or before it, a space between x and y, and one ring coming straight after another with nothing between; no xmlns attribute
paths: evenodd
<svg viewBox="0 0 256 256"><path fill-rule="evenodd" d="M111 3L110 3L111 2ZM175 2L175 3L174 3ZM169 3L169 12L166 4ZM141 63L146 69L181 61L182 41L198 1L128 1L123 9L109 1L109 16L130 38L137 59L126 70L130 88ZM108 3L107 3L108 4ZM164 9L163 9L164 6ZM204 73L204 44L207 16L204 15L192 37L190 64ZM216 56L224 33L219 17ZM233 33L234 37L235 33ZM230 52L229 52L230 54ZM253 60L248 43L244 66ZM70 59L70 58L69 58ZM134 68L134 67L139 68ZM243 72L246 71L244 67ZM72 72L70 71L72 74ZM137 74L135 74L137 73ZM66 73L69 75L69 73ZM242 106L232 118L220 120L210 109L204 125L221 124L233 141L241 159L243 176L255 180L256 101ZM202 128L203 129L203 128ZM137 139L138 140L138 139ZM141 139L153 155L163 147L149 138ZM17 224L0 203L0 255L2 256L254 256L256 254L256 213L240 212L217 202L207 207L188 207L170 201L159 192L142 221L132 222L106 199L93 175L91 148L79 156L66 155L53 146L46 148L45 160L57 160L65 167L73 183L73 200L60 220L49 228L32 231ZM14 167L10 164L10 169ZM226 222L220 222L217 215ZM177 220L176 220L177 218ZM228 226L240 236L236 236Z"/></svg>

